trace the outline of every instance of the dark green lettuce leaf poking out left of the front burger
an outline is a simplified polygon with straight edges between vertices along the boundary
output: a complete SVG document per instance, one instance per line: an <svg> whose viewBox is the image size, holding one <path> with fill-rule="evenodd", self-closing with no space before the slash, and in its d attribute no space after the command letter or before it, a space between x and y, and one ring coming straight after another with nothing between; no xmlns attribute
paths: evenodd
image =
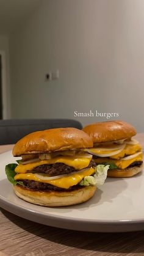
<svg viewBox="0 0 144 256"><path fill-rule="evenodd" d="M14 180L14 177L16 175L15 172L15 168L16 166L18 166L18 164L7 164L7 166L5 166L5 174L7 175L7 179L10 181L10 183L12 183L13 185L23 185L23 181L16 181Z"/></svg>

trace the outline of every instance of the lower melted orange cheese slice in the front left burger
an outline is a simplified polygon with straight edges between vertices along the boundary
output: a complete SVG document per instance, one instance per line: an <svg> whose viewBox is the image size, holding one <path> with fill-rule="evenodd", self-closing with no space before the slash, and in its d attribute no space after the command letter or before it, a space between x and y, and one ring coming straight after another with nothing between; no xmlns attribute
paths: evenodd
<svg viewBox="0 0 144 256"><path fill-rule="evenodd" d="M54 186L57 186L59 188L65 188L68 189L71 186L77 185L85 176L92 175L95 172L95 169L93 167L84 170L84 172L81 172L79 174L73 174L68 177L63 178L57 178L56 180L41 180L38 178L35 174L16 174L14 179L15 180L34 180L34 181L40 181L44 183L48 183Z"/></svg>

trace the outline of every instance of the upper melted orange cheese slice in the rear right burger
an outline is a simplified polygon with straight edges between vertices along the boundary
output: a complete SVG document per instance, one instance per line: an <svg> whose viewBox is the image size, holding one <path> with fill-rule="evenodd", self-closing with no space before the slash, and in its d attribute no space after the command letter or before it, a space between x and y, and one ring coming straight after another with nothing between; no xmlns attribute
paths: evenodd
<svg viewBox="0 0 144 256"><path fill-rule="evenodd" d="M142 151L142 147L140 144L136 144L136 145L126 144L126 146L120 153L118 153L117 155L110 156L110 158L120 159L120 158L123 158L125 155L128 155L128 156L134 155L134 153L137 153L139 151Z"/></svg>

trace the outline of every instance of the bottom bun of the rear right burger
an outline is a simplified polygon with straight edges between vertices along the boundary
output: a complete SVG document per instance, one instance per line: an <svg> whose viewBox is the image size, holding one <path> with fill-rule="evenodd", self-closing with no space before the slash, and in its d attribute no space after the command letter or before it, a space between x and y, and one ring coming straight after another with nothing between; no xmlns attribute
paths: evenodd
<svg viewBox="0 0 144 256"><path fill-rule="evenodd" d="M120 169L114 169L114 170L108 170L107 171L107 177L115 177L115 178L125 178L125 177L132 177L143 169L143 164L141 166L134 166L134 167L128 167L124 170Z"/></svg>

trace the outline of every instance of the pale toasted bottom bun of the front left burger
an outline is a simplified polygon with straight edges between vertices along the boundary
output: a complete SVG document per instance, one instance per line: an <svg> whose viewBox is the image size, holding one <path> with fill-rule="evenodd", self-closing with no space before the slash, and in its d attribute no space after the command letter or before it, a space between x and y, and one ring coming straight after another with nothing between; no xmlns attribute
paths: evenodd
<svg viewBox="0 0 144 256"><path fill-rule="evenodd" d="M13 186L13 189L16 196L29 203L46 207L63 207L87 201L95 193L96 186L83 186L80 189L67 192L32 191L18 185Z"/></svg>

